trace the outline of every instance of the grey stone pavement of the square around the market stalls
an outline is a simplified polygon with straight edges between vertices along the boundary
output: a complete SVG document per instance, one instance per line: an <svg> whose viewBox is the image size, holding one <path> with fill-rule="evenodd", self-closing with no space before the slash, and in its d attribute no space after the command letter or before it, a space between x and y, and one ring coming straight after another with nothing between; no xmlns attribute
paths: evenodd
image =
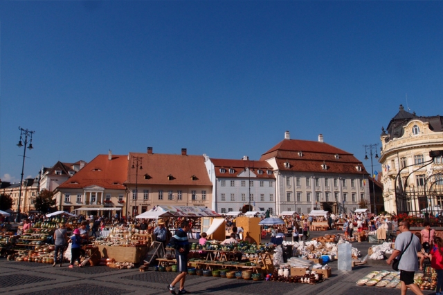
<svg viewBox="0 0 443 295"><path fill-rule="evenodd" d="M314 234L315 233L315 234ZM329 234L334 234L329 231ZM311 236L321 236L323 233L311 233ZM367 242L353 243L365 255L370 247ZM378 287L361 287L356 280L372 270L388 269L384 266L355 267L351 272L338 271L336 261L332 266L332 277L317 285L280 282L254 282L237 280L235 278L214 278L204 276L187 276L186 289L193 294L303 294L303 295L376 295L400 294L399 289ZM52 267L41 263L7 261L0 258L0 294L170 294L166 289L177 273L174 272L139 272L136 269L111 269L109 267ZM176 286L178 289L178 285ZM408 291L407 294L413 294ZM425 292L435 294L435 292Z"/></svg>

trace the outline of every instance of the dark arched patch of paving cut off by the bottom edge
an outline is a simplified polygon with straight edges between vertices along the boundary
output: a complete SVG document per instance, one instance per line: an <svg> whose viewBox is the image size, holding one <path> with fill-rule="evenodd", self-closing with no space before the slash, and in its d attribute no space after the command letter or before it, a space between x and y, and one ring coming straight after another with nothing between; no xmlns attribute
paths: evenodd
<svg viewBox="0 0 443 295"><path fill-rule="evenodd" d="M68 287L55 287L51 289L46 289L44 291L38 292L28 292L21 294L33 294L33 295L120 295L120 294L131 294L134 291L128 291L125 289L118 289L114 287L106 287L93 284L76 284Z"/></svg>

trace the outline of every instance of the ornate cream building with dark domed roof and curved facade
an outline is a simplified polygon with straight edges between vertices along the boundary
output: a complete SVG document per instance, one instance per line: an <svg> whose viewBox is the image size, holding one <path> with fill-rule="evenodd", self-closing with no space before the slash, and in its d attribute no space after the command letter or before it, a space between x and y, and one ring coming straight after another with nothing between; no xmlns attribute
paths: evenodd
<svg viewBox="0 0 443 295"><path fill-rule="evenodd" d="M439 153L443 150L443 117L420 117L400 104L388 128L382 128L380 140L385 210L420 213L437 205L443 208L443 159Z"/></svg>

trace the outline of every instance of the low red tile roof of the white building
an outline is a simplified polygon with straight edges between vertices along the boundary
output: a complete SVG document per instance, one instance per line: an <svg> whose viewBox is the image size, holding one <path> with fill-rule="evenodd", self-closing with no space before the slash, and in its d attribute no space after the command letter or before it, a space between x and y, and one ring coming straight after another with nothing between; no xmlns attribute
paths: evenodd
<svg viewBox="0 0 443 295"><path fill-rule="evenodd" d="M242 173L248 167L251 168L251 172L257 175L257 178L272 178L275 179L273 173L270 175L268 170L273 171L272 166L266 161L253 161L253 160L230 160L230 159L210 159L215 167L215 176L217 178L233 178L237 177L239 173ZM221 173L220 169L224 168L225 173ZM229 173L229 169L234 169L234 173ZM263 173L259 174L258 170L262 170Z"/></svg>

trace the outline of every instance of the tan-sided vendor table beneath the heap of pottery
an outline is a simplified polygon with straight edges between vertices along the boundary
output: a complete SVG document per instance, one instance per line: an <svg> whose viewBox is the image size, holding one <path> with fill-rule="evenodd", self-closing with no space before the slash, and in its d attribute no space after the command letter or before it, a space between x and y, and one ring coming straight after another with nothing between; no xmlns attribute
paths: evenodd
<svg viewBox="0 0 443 295"><path fill-rule="evenodd" d="M119 247L98 245L101 258L114 258L117 262L139 263L147 252L147 247Z"/></svg>

